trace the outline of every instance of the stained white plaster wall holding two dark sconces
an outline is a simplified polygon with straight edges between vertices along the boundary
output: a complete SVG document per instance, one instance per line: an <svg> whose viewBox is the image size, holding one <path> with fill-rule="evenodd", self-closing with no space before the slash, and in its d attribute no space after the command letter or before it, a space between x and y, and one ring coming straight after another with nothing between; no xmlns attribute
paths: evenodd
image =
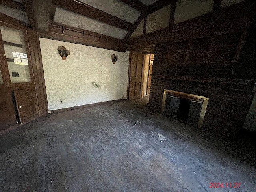
<svg viewBox="0 0 256 192"><path fill-rule="evenodd" d="M57 54L58 46L70 50L66 60ZM129 52L45 38L40 38L40 47L49 110L126 98ZM118 55L116 64L112 54ZM99 88L92 85L94 81Z"/></svg>

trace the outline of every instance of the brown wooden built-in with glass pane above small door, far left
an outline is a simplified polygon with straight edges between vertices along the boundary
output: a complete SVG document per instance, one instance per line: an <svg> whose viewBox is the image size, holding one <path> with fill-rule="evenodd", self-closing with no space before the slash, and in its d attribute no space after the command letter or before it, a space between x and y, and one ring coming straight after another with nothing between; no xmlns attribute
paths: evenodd
<svg viewBox="0 0 256 192"><path fill-rule="evenodd" d="M38 114L38 102L26 31L0 23L0 48L0 83L2 82L0 123L2 128L5 128L7 122L2 118L4 110L12 111L8 114L12 120L9 126L22 124ZM22 108L22 105L25 107ZM20 112L21 108L22 112Z"/></svg>

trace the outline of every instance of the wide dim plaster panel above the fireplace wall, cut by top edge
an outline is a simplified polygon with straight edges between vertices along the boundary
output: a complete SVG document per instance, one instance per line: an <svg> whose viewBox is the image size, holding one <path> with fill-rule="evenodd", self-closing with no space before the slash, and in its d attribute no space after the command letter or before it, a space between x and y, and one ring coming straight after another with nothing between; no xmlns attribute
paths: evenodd
<svg viewBox="0 0 256 192"><path fill-rule="evenodd" d="M174 24L212 12L214 0L178 0Z"/></svg>

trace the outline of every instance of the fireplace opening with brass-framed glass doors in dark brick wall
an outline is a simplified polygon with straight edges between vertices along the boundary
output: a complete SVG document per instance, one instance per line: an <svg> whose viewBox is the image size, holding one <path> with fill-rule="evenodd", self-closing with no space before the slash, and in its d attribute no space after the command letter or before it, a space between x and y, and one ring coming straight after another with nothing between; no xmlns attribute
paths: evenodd
<svg viewBox="0 0 256 192"><path fill-rule="evenodd" d="M164 89L162 113L202 128L209 98Z"/></svg>

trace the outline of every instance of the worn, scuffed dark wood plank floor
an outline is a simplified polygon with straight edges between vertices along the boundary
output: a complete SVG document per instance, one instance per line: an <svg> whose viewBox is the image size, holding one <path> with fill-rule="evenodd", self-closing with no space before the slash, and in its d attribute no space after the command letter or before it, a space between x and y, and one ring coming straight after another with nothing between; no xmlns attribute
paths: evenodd
<svg viewBox="0 0 256 192"><path fill-rule="evenodd" d="M0 136L0 191L254 192L256 169L113 102Z"/></svg>

